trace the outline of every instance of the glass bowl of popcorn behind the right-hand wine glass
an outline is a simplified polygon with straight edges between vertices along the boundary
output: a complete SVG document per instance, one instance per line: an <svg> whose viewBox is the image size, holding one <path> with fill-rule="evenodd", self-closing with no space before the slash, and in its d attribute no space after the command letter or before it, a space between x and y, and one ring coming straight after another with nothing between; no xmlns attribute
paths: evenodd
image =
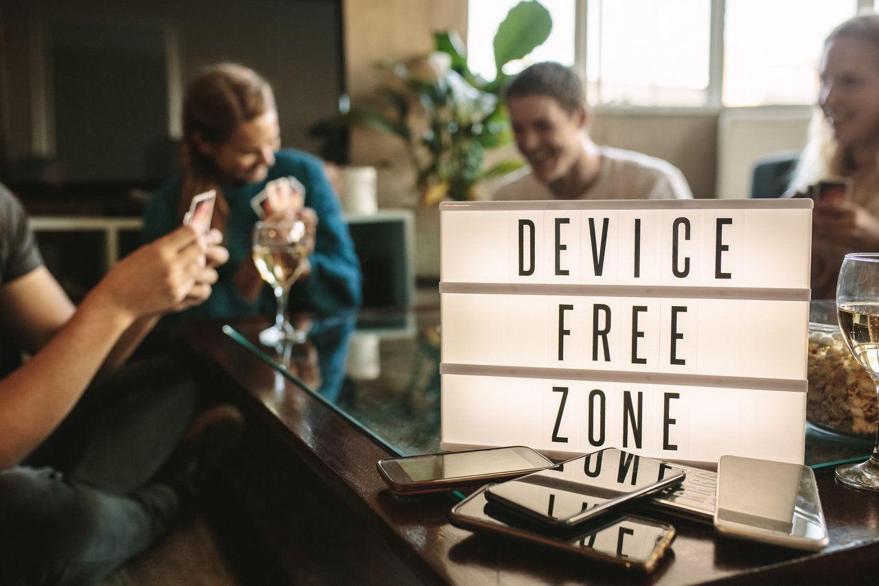
<svg viewBox="0 0 879 586"><path fill-rule="evenodd" d="M811 304L807 377L809 423L848 437L875 439L875 383L848 351L833 301Z"/></svg>

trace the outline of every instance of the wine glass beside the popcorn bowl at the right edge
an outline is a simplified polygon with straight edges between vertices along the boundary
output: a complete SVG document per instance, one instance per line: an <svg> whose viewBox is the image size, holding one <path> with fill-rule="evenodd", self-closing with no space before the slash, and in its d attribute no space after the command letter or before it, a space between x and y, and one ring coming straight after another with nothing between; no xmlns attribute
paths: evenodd
<svg viewBox="0 0 879 586"><path fill-rule="evenodd" d="M879 254L847 254L836 286L839 329L848 349L879 387ZM837 467L846 486L879 492L879 433L873 455L861 464Z"/></svg>

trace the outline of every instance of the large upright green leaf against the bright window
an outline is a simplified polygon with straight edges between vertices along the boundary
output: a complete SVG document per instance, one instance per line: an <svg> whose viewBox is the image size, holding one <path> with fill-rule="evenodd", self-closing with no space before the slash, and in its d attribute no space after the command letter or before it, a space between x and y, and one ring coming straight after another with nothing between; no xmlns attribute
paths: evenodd
<svg viewBox="0 0 879 586"><path fill-rule="evenodd" d="M536 0L520 2L506 14L495 33L495 67L498 77L506 63L521 59L547 40L552 30L549 11Z"/></svg>

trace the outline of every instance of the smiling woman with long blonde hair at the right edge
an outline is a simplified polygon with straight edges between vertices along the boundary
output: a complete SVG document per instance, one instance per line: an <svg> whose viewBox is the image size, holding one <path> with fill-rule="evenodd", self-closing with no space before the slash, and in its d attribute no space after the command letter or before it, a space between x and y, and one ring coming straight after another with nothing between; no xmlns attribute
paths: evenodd
<svg viewBox="0 0 879 586"><path fill-rule="evenodd" d="M821 89L791 192L832 177L847 199L818 199L812 220L812 298L835 297L846 252L879 252L879 15L860 14L825 40Z"/></svg>

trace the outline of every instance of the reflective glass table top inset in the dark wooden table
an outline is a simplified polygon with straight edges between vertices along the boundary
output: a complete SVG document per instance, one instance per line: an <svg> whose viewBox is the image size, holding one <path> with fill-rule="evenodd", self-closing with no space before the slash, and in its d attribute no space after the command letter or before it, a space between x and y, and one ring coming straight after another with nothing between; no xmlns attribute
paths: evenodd
<svg viewBox="0 0 879 586"><path fill-rule="evenodd" d="M336 409L396 455L439 449L439 308L369 311L297 324L303 344L259 344L264 324L225 326L237 344ZM867 459L872 441L806 430L815 469Z"/></svg>

